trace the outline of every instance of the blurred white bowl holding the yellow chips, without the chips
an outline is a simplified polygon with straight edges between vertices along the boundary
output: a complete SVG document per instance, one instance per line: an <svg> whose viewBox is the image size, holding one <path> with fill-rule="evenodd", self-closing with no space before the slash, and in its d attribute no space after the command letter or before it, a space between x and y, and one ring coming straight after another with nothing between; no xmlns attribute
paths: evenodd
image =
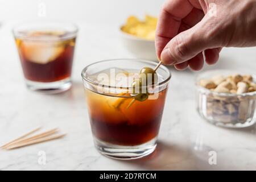
<svg viewBox="0 0 256 182"><path fill-rule="evenodd" d="M119 29L121 40L126 49L138 59L158 61L155 52L155 41L138 38Z"/></svg>

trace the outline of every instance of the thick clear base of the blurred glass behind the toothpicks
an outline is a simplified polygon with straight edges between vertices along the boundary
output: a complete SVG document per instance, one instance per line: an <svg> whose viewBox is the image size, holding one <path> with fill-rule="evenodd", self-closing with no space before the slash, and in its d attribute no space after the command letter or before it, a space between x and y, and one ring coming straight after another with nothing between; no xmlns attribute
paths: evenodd
<svg viewBox="0 0 256 182"><path fill-rule="evenodd" d="M64 80L55 82L37 82L26 80L27 88L36 92L55 94L61 93L71 88L71 78L65 78Z"/></svg>

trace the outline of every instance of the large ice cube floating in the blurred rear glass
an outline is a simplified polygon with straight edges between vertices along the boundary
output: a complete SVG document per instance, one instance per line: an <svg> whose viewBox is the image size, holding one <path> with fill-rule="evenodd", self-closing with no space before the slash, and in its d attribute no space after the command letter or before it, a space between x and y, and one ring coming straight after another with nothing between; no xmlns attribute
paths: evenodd
<svg viewBox="0 0 256 182"><path fill-rule="evenodd" d="M56 42L23 40L20 49L27 60L38 64L47 64L60 56L64 51L64 46Z"/></svg>

